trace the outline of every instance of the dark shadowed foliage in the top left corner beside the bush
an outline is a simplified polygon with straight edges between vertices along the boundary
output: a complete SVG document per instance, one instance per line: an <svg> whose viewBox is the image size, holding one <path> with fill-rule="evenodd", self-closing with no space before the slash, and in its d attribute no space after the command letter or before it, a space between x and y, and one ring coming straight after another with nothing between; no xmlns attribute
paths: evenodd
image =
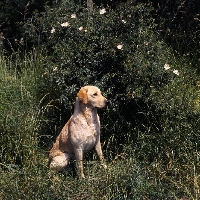
<svg viewBox="0 0 200 200"><path fill-rule="evenodd" d="M24 43L26 38L22 27L33 17L34 12L44 11L44 6L47 3L52 5L52 2L53 0L0 1L0 39L3 40L4 48L9 53L18 49L23 52L29 48L30 43Z"/></svg>

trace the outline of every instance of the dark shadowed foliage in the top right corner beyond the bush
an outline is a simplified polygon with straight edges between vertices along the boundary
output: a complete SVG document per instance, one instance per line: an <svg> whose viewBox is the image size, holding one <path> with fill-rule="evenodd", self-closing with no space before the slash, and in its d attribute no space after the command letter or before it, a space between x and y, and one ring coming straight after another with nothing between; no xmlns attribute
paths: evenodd
<svg viewBox="0 0 200 200"><path fill-rule="evenodd" d="M159 23L162 37L177 54L199 66L200 6L198 0L153 0L153 15ZM198 70L199 72L199 70Z"/></svg>

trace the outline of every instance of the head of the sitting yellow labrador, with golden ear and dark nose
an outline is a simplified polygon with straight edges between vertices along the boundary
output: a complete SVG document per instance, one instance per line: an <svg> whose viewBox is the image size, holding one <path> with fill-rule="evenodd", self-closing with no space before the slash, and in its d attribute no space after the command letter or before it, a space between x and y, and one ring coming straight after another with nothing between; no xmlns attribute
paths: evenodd
<svg viewBox="0 0 200 200"><path fill-rule="evenodd" d="M108 103L108 100L102 96L100 89L95 86L82 87L79 90L77 97L83 104L94 108L103 108Z"/></svg>

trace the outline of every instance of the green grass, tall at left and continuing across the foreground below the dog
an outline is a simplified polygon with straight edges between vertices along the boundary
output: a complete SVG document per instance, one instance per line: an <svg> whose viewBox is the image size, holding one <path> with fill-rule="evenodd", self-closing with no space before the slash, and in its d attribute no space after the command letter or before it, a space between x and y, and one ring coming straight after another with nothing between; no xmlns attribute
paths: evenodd
<svg viewBox="0 0 200 200"><path fill-rule="evenodd" d="M23 62L16 57L0 57L0 199L200 199L199 147L191 148L195 142L182 144L187 147L183 148L182 161L168 152L163 162L139 160L138 149L129 144L121 153L104 148L105 157L114 155L108 161L108 170L100 167L96 156L86 159L84 180L78 180L74 171L49 171L48 152L38 145L38 130L44 122L35 92L42 77L36 70L43 64L40 62L43 58L34 55ZM18 73L16 67L20 66ZM171 84L167 92L177 93ZM187 95L179 96L187 99ZM193 99L198 113L199 97ZM184 135L195 129L186 130ZM148 139L148 130L136 134Z"/></svg>

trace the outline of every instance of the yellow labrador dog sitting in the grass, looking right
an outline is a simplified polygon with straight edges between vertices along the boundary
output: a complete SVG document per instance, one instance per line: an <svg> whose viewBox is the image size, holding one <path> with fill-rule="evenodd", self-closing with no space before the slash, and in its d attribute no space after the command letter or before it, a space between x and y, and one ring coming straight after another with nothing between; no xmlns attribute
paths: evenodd
<svg viewBox="0 0 200 200"><path fill-rule="evenodd" d="M100 120L97 108L103 108L108 100L99 88L85 86L77 94L74 113L58 135L50 150L50 168L62 171L67 168L70 157L75 156L79 176L84 178L83 153L95 148L104 168L100 143Z"/></svg>

